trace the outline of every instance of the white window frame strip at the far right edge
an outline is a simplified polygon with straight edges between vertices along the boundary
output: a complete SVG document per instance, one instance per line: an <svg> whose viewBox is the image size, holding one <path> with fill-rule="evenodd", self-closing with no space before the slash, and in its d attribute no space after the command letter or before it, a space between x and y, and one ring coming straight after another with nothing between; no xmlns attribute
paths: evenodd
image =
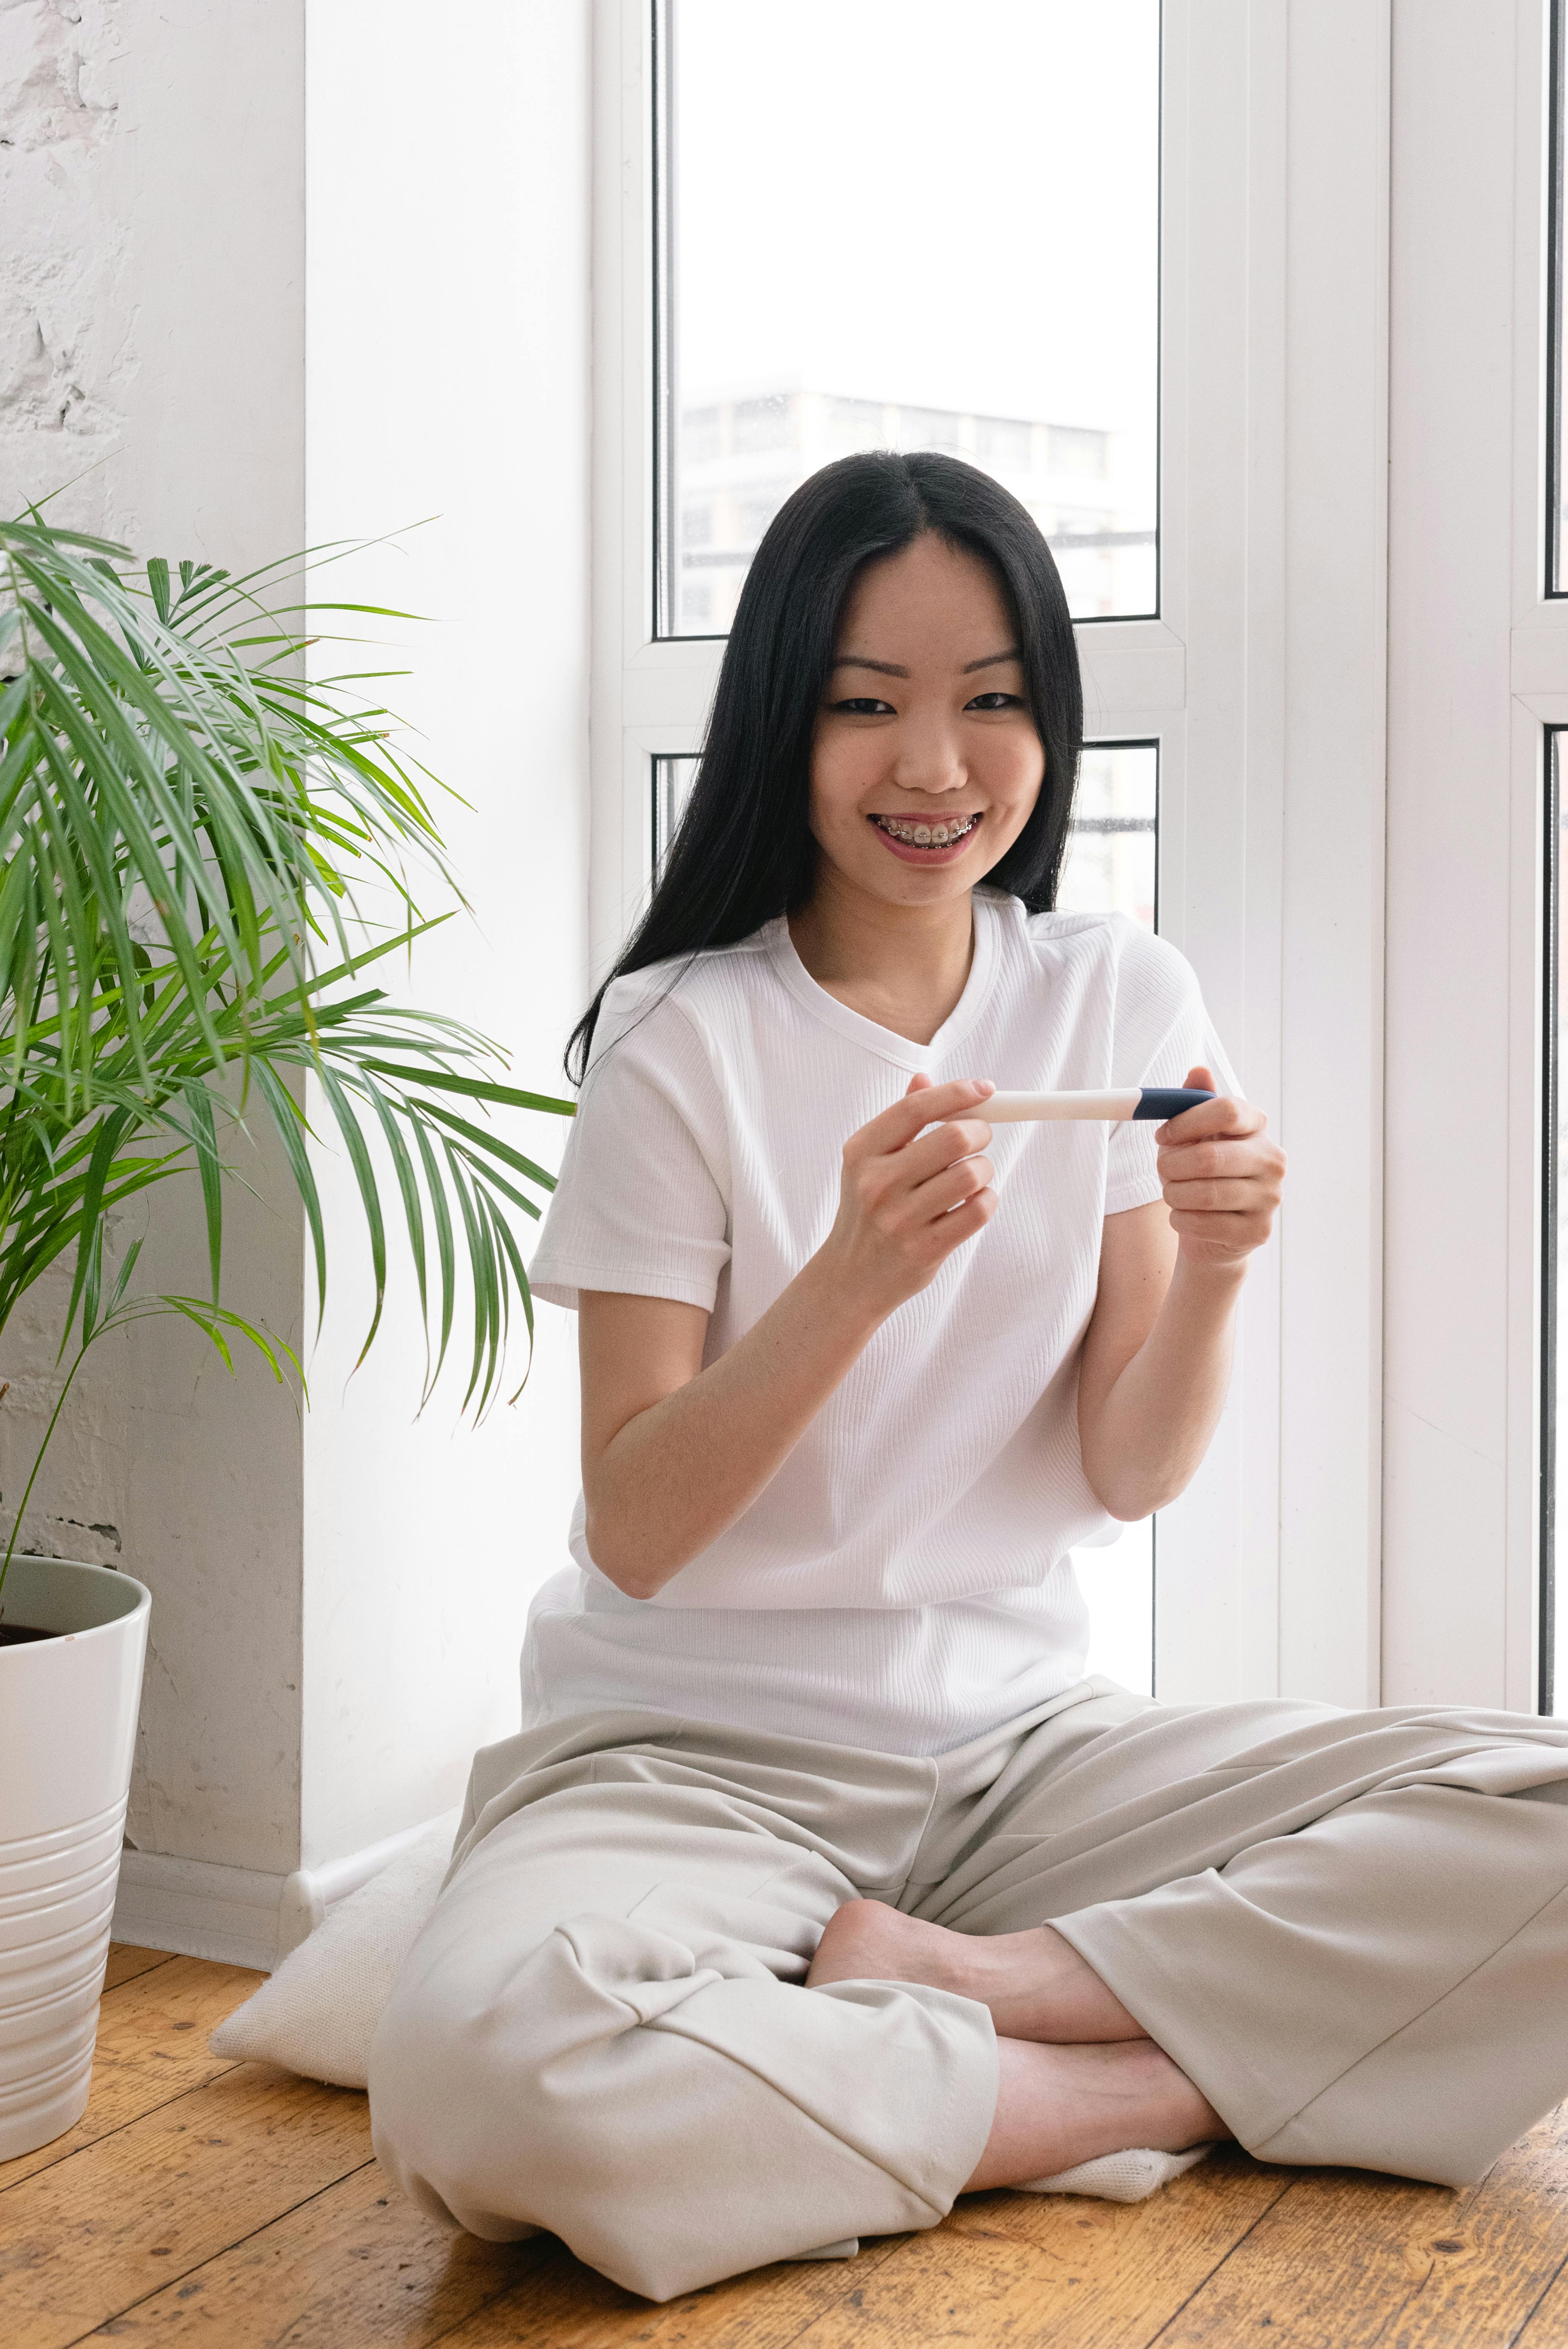
<svg viewBox="0 0 1568 2349"><path fill-rule="evenodd" d="M1394 42L1387 1694L1516 1710L1540 1687L1545 731L1568 723L1549 16L1422 0Z"/></svg>

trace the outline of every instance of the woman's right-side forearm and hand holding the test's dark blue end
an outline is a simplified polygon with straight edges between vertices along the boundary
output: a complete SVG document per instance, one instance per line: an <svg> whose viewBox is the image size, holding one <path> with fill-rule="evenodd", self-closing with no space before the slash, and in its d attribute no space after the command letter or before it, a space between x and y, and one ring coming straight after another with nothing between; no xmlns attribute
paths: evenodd
<svg viewBox="0 0 1568 2349"><path fill-rule="evenodd" d="M1188 1085L1211 1088L1207 1069ZM1077 1374L1084 1475L1113 1517L1148 1517L1192 1480L1230 1384L1235 1301L1268 1240L1284 1151L1246 1102L1162 1128L1164 1205L1108 1214Z"/></svg>

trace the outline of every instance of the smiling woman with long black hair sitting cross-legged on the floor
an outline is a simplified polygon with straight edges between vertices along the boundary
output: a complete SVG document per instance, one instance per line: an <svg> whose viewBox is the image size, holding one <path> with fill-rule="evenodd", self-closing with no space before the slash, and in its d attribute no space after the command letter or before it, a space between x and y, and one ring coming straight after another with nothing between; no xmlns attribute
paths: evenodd
<svg viewBox="0 0 1568 2349"><path fill-rule="evenodd" d="M1225 2133L1467 2180L1568 2088L1563 1724L1084 1670L1073 1548L1195 1475L1284 1158L1183 956L1052 904L1077 731L1002 489L819 474L580 1031L573 1567L369 2081L425 2210L650 2297Z"/></svg>

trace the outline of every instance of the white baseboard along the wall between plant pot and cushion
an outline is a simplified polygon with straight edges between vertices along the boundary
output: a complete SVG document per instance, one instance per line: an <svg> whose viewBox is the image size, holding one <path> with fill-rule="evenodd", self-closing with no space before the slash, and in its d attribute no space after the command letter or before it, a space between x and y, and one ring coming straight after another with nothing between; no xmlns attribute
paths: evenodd
<svg viewBox="0 0 1568 2349"><path fill-rule="evenodd" d="M420 1820L418 1828L387 1835L380 1844L350 1851L343 1860L296 1867L289 1877L263 1875L256 1867L221 1867L216 1860L174 1860L162 1851L134 1851L127 1844L120 1856L115 1940L272 1973L279 1959L322 1924L333 1900L359 1891L387 1860L437 1825L453 1832L458 1811Z"/></svg>

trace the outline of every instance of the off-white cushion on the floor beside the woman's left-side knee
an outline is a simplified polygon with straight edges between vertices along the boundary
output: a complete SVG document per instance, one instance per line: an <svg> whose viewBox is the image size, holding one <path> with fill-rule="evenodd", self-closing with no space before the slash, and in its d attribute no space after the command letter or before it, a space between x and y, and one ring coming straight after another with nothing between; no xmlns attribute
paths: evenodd
<svg viewBox="0 0 1568 2349"><path fill-rule="evenodd" d="M371 2039L404 1959L437 1905L453 1851L441 1818L322 1924L218 2025L207 2046L235 2062L277 2062L336 2088L364 2088Z"/></svg>

